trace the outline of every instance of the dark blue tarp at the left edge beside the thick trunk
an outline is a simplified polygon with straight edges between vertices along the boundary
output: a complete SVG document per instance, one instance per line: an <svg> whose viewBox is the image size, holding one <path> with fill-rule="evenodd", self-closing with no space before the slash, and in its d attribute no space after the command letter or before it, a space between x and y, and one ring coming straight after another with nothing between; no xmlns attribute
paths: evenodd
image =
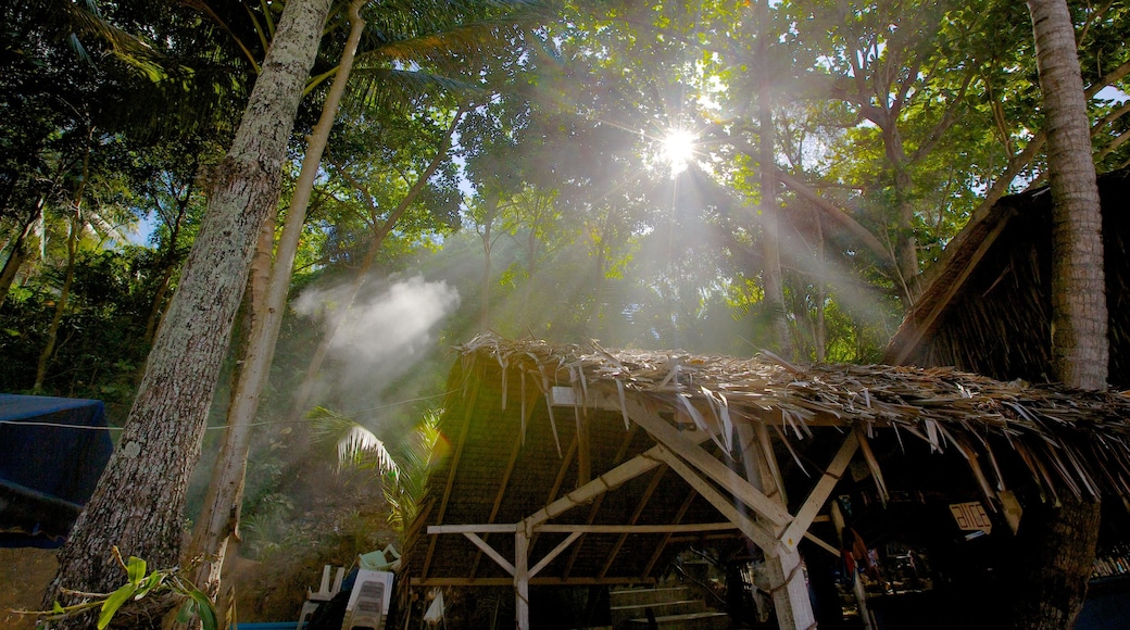
<svg viewBox="0 0 1130 630"><path fill-rule="evenodd" d="M0 546L61 545L112 452L102 401L0 394Z"/></svg>

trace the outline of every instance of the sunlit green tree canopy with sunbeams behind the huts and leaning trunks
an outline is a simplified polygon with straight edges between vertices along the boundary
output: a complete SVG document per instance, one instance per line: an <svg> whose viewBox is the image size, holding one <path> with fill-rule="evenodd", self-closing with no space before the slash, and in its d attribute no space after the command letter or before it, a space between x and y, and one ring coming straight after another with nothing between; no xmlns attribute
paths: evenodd
<svg viewBox="0 0 1130 630"><path fill-rule="evenodd" d="M125 422L295 2L0 9L5 391L102 399ZM304 450L294 435L315 408L395 443L442 393L444 348L486 330L873 361L962 227L1048 182L1015 2L357 6L251 446L280 466L276 445ZM1125 168L1130 8L1069 7L1093 163ZM240 240L247 260L280 254L348 9L331 5L297 71L278 199L260 244ZM201 427L224 423L253 325L255 280L238 273ZM199 435L188 470L193 443L218 449L218 430ZM285 490L261 472L251 511Z"/></svg>

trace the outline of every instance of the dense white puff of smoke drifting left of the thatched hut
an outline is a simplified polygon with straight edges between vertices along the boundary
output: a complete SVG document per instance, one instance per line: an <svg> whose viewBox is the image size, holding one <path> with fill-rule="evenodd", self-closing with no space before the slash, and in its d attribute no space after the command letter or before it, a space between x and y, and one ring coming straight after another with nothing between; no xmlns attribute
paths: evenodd
<svg viewBox="0 0 1130 630"><path fill-rule="evenodd" d="M294 304L306 316L342 308L348 289L305 291ZM459 307L459 292L444 281L414 277L372 295L358 295L329 347L319 380L322 392L348 406L380 396L392 379L416 366L435 344L436 324ZM332 318L332 315L331 317ZM332 393L331 393L332 391Z"/></svg>

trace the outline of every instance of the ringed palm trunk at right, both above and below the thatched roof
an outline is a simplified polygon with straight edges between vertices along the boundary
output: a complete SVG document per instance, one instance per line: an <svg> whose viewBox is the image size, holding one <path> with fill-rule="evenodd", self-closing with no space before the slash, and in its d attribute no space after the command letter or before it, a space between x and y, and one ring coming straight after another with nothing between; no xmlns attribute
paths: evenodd
<svg viewBox="0 0 1130 630"><path fill-rule="evenodd" d="M1052 190L1052 369L1072 387L1104 390L1109 362L1102 210L1075 28L1064 0L1028 0L1048 131ZM1087 594L1099 502L1067 497L1031 506L1020 525L1024 561L1014 628L1071 628ZM1028 539L1031 536L1031 539Z"/></svg>

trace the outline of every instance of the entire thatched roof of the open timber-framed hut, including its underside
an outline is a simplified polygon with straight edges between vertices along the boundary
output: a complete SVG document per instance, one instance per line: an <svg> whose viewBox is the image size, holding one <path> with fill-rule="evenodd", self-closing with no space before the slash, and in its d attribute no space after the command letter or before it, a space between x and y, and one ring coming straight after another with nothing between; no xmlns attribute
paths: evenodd
<svg viewBox="0 0 1130 630"><path fill-rule="evenodd" d="M993 509L1017 487L1130 497L1130 397L1121 393L954 368L794 365L767 352L608 350L495 334L458 348L450 388L441 429L451 450L408 533L401 581L410 586L508 585L513 534L523 530L531 566L544 559L530 584L646 581L677 542L737 535L742 516L722 504L766 523L741 528L763 548L796 545L847 460L866 464L880 496L899 487L887 466L948 453ZM764 460L773 479L762 488L782 493L766 500L728 481L728 471L745 476L750 452L775 454Z"/></svg>

